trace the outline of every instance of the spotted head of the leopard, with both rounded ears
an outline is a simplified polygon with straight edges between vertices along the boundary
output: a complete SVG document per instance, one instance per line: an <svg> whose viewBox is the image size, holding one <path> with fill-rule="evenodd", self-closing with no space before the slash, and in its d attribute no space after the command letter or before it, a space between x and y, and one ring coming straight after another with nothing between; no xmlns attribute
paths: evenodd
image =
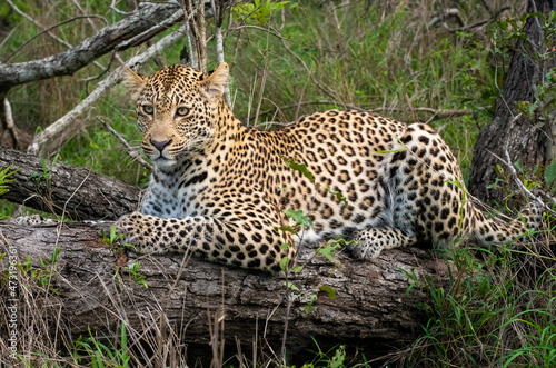
<svg viewBox="0 0 556 368"><path fill-rule="evenodd" d="M172 166L188 155L202 155L210 147L227 80L225 62L211 73L181 64L151 77L125 69L125 88L137 101L142 149L155 166Z"/></svg>

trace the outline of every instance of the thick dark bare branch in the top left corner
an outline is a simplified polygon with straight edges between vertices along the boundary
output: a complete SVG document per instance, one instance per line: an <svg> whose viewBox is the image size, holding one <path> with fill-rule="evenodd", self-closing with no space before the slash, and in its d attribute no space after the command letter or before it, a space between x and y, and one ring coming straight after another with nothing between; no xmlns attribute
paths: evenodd
<svg viewBox="0 0 556 368"><path fill-rule="evenodd" d="M28 62L0 63L0 96L11 87L52 77L69 76L89 62L112 50L121 51L145 41L171 24L159 27L159 23L180 10L178 3L166 2L143 4L129 17L101 29L71 49L42 60ZM136 42L123 41L135 39ZM122 44L123 43L123 44ZM119 47L122 44L121 47Z"/></svg>

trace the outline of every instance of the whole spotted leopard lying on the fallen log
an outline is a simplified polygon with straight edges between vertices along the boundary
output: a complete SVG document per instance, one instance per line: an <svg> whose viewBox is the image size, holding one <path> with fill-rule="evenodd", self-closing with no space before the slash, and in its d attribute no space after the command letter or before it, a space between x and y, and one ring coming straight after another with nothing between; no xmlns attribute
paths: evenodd
<svg viewBox="0 0 556 368"><path fill-rule="evenodd" d="M506 245L538 223L530 207L510 222L483 212L426 123L332 109L262 130L234 116L228 79L227 63L211 72L183 64L148 77L123 71L153 166L140 209L117 221L133 251L279 272L300 241L287 210L311 221L304 241L346 237L364 260L423 242Z"/></svg>

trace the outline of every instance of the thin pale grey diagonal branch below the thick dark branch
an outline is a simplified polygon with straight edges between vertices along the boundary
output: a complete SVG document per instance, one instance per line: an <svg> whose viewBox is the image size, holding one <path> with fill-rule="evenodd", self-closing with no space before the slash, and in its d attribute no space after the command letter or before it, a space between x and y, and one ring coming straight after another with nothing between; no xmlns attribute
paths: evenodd
<svg viewBox="0 0 556 368"><path fill-rule="evenodd" d="M129 59L126 66L137 67L147 63L162 50L170 47L173 42L178 41L182 37L183 31L185 27L182 26L175 32L166 36L160 41L152 44L143 53ZM120 67L112 71L105 80L98 83L97 89L92 91L85 100L82 100L71 111L66 113L63 117L61 117L60 119L48 126L39 135L37 135L33 142L29 146L27 152L31 155L43 153L49 141L58 137L59 133L67 130L73 123L73 121L83 112L86 112L100 97L102 97L110 87L116 86L121 81L122 69L123 67Z"/></svg>

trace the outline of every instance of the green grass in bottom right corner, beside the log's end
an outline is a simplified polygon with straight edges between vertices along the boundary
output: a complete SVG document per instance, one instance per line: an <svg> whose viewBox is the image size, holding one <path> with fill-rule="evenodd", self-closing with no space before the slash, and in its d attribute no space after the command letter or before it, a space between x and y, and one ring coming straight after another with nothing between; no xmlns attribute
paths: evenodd
<svg viewBox="0 0 556 368"><path fill-rule="evenodd" d="M483 260L477 259L477 252ZM526 256L527 255L527 256ZM524 261L537 257L534 262ZM445 257L449 285L425 288L433 302L405 366L552 367L556 364L556 268L533 252L460 248ZM540 263L550 265L540 271Z"/></svg>

